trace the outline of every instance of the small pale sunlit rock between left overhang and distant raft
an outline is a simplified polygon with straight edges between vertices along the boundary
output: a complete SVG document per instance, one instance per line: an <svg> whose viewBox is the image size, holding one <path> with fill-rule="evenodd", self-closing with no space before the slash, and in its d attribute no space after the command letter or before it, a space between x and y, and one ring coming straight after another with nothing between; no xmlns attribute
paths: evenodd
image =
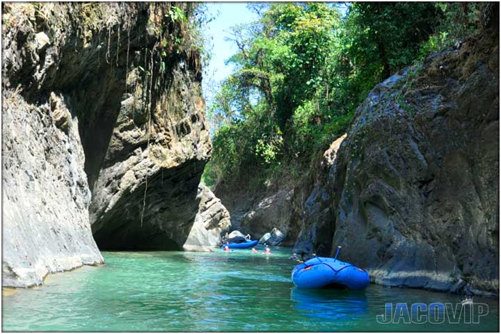
<svg viewBox="0 0 501 334"><path fill-rule="evenodd" d="M201 198L198 213L183 248L211 251L221 246L221 237L230 229L230 213L204 184L198 186L198 197Z"/></svg>

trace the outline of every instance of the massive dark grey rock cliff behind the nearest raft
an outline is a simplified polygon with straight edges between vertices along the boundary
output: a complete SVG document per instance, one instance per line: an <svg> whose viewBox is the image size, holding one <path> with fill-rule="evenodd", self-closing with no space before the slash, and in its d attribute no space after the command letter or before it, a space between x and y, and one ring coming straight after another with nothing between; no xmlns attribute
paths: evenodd
<svg viewBox="0 0 501 334"><path fill-rule="evenodd" d="M484 31L372 90L327 152L296 250L340 245L383 285L499 294L498 138L499 35Z"/></svg>

